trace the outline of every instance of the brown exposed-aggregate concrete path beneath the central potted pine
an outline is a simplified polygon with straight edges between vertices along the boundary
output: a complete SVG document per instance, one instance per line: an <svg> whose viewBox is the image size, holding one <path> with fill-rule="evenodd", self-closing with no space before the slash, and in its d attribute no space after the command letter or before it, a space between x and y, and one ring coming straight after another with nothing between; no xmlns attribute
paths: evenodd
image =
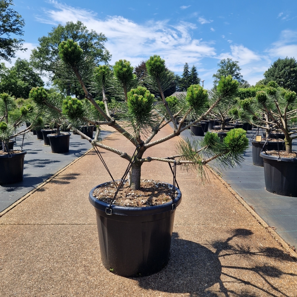
<svg viewBox="0 0 297 297"><path fill-rule="evenodd" d="M156 139L171 131L165 127ZM177 140L146 156L172 155ZM134 150L117 133L104 143ZM120 178L127 161L102 155ZM143 165L142 177L172 181L169 166L156 161ZM297 264L271 233L216 176L202 185L179 170L183 200L168 265L143 278L112 274L101 263L88 201L90 189L109 179L91 151L0 218L0 296L297 296Z"/></svg>

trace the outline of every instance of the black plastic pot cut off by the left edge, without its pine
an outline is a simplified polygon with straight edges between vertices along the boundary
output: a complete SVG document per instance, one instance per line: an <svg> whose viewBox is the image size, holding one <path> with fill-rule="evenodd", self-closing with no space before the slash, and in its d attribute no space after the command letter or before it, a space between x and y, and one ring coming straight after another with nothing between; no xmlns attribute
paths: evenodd
<svg viewBox="0 0 297 297"><path fill-rule="evenodd" d="M0 155L0 185L15 184L23 180L25 154L26 151Z"/></svg>

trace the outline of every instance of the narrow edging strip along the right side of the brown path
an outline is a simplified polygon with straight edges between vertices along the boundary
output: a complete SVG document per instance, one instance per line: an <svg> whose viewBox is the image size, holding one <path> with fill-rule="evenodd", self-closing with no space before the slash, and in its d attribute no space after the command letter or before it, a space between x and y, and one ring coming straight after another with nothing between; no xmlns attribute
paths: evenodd
<svg viewBox="0 0 297 297"><path fill-rule="evenodd" d="M267 225L267 223L255 212L254 208L247 204L246 201L242 197L240 197L230 185L225 182L221 176L219 176L216 172L213 172L214 175L221 181L221 183L233 194L233 196L247 209L247 211L257 220L257 222L265 228L266 232L269 233L272 238L282 247L282 249L290 255L297 262L297 253L290 247L278 234L274 231L273 228Z"/></svg>

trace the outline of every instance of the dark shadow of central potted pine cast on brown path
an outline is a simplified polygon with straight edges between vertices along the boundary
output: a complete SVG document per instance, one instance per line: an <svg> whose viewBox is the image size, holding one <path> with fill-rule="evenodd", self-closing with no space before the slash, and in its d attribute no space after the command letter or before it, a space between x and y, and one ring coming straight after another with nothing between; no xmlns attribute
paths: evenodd
<svg viewBox="0 0 297 297"><path fill-rule="evenodd" d="M230 241L235 237L247 238L252 234L252 231L247 229L233 230L232 235L226 240L215 241L211 244L214 250L213 252L204 245L178 238L178 233L173 233L168 265L156 274L136 278L135 280L139 282L140 287L145 289L153 289L167 293L187 293L189 294L187 296L192 297L257 297L262 296L262 294L272 297L288 296L275 287L268 277L279 278L283 274L292 276L295 276L295 274L285 273L273 266L241 267L236 266L236 263L234 263L233 266L222 266L220 258L225 258L230 255L244 255L245 257L252 257L253 255L258 257L261 255L277 258L279 260L285 259L287 261L293 261L293 259L280 249L271 250L271 248L262 248L258 249L258 252L251 252L249 248L245 248L242 245L230 244ZM238 259L238 262L239 261ZM232 272L229 273L229 269L224 269L223 272L222 268L232 268L232 271L236 271L236 274L233 275ZM225 271L228 273L225 273ZM263 286L260 287L258 282L254 281L254 277L251 277L249 281L246 280L246 277L241 279L238 277L240 271L249 271L257 274L265 281L269 290L267 290L267 286L266 288L263 288ZM221 276L224 276L224 279L227 277L228 281L226 282L229 284L230 282L234 283L234 288L237 290L227 289ZM217 286L211 288L215 284L217 284ZM238 293L241 285L245 285L245 287L248 286L248 290ZM255 295L255 290L257 290L260 295Z"/></svg>

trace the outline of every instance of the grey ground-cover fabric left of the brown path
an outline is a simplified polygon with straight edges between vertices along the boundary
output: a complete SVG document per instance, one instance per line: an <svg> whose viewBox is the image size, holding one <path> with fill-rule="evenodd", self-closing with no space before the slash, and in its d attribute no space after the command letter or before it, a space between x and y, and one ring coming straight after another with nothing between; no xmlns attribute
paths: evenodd
<svg viewBox="0 0 297 297"><path fill-rule="evenodd" d="M24 128L22 127L22 129ZM111 133L101 129L102 138ZM22 145L27 152L24 160L23 181L0 186L0 212L91 148L89 141L81 139L80 135L73 135L72 133L69 142L69 153L66 154L53 154L50 146L45 145L43 140L37 139L33 132L26 134L24 141L23 136L16 138L14 148L21 149Z"/></svg>

